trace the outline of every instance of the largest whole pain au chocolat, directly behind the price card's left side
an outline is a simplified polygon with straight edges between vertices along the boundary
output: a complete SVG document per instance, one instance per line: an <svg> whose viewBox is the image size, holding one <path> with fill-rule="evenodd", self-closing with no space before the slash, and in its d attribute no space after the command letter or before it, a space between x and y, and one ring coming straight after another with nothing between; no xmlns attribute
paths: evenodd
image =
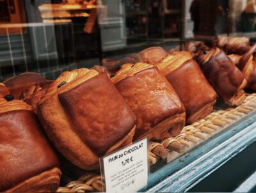
<svg viewBox="0 0 256 193"><path fill-rule="evenodd" d="M106 73L63 72L38 104L38 117L56 148L82 169L132 143L136 117Z"/></svg>

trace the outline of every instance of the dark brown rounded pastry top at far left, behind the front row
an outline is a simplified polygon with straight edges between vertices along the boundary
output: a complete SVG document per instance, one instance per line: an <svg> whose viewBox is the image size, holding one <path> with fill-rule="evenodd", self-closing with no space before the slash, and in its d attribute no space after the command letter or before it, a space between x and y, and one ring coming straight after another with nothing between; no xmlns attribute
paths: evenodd
<svg viewBox="0 0 256 193"><path fill-rule="evenodd" d="M22 91L28 89L30 86L35 84L45 82L46 79L42 77L39 73L35 72L25 72L20 73L15 77L7 79L3 83L9 89L10 93L14 96L15 99L19 99Z"/></svg>

